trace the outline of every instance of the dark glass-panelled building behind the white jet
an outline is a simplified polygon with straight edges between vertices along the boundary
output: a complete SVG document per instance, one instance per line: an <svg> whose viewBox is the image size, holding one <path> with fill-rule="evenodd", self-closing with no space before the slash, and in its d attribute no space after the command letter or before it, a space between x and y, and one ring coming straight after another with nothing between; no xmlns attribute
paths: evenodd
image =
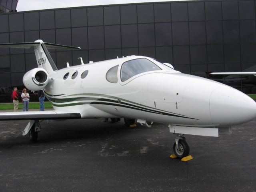
<svg viewBox="0 0 256 192"><path fill-rule="evenodd" d="M8 0L0 0L8 8ZM12 4L15 5L15 0ZM8 6L7 6L8 4ZM254 0L197 0L61 8L0 14L0 43L44 42L80 46L50 52L58 69L142 55L176 70L256 93L255 76L210 72L256 71ZM0 48L0 89L23 88L22 77L37 67L34 50ZM11 102L1 92L0 102Z"/></svg>

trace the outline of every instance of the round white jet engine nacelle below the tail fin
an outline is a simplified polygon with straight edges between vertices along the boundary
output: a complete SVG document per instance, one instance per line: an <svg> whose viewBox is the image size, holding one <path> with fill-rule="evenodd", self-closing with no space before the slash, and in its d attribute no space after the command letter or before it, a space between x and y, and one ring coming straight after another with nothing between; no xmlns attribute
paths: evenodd
<svg viewBox="0 0 256 192"><path fill-rule="evenodd" d="M43 89L49 81L48 72L43 68L34 68L23 76L23 84L27 89L38 91Z"/></svg>

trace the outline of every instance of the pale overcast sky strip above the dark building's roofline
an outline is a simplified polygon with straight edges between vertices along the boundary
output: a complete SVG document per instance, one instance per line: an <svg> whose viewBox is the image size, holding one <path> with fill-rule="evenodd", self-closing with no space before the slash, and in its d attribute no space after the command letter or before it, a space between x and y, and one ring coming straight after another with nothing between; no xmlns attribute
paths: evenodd
<svg viewBox="0 0 256 192"><path fill-rule="evenodd" d="M19 0L17 11L173 0Z"/></svg>

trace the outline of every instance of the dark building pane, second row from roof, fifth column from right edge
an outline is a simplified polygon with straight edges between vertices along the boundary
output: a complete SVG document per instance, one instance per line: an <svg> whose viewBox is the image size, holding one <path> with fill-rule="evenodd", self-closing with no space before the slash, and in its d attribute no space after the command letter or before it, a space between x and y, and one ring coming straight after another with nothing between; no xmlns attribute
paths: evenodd
<svg viewBox="0 0 256 192"><path fill-rule="evenodd" d="M187 22L172 23L172 44L173 45L189 44Z"/></svg>

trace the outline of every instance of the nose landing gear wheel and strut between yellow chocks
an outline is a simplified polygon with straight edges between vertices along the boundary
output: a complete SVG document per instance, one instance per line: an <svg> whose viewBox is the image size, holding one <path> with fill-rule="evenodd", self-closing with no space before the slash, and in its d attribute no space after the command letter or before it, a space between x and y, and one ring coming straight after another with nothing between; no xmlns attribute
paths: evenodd
<svg viewBox="0 0 256 192"><path fill-rule="evenodd" d="M175 142L173 145L173 150L174 150L174 154L178 158L183 158L188 156L189 146L183 134L177 134L177 137L175 138Z"/></svg>

